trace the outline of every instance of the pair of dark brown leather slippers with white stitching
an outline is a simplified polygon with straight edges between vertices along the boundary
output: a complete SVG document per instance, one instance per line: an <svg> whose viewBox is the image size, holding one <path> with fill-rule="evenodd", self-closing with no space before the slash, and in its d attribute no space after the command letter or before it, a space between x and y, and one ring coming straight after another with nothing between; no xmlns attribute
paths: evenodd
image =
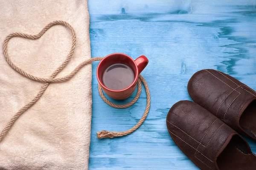
<svg viewBox="0 0 256 170"><path fill-rule="evenodd" d="M177 146L202 170L256 170L256 155L239 135L256 142L256 92L212 69L196 72L188 92L194 102L175 103L166 118Z"/></svg>

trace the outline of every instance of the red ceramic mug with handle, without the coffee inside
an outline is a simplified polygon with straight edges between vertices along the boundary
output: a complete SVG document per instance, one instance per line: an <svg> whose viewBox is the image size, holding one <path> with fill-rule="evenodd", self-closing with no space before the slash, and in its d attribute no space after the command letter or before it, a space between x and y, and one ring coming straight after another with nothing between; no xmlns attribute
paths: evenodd
<svg viewBox="0 0 256 170"><path fill-rule="evenodd" d="M129 85L127 88L122 90L113 90L107 88L102 81L104 71L113 64L125 64L129 66L132 71L134 72L134 81ZM113 99L122 100L126 99L134 92L139 74L143 71L143 69L148 65L148 59L145 56L140 56L137 59L133 60L126 54L122 53L114 53L109 54L108 56L104 57L97 67L97 79L99 85L102 87L103 91L105 91L108 96Z"/></svg>

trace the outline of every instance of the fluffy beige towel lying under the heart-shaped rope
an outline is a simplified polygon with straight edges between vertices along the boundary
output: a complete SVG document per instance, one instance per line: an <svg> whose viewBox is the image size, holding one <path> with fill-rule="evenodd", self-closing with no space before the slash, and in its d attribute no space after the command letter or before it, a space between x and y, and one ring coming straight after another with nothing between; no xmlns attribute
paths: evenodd
<svg viewBox="0 0 256 170"><path fill-rule="evenodd" d="M48 23L64 20L75 29L77 43L73 58L57 77L67 75L91 57L87 0L0 0L0 6L1 48L10 33L38 34ZM18 67L35 76L49 77L70 47L69 30L54 26L39 40L15 37L8 49ZM87 65L67 82L49 85L0 142L1 170L88 169L91 76L91 65ZM14 71L1 52L0 130L43 84Z"/></svg>

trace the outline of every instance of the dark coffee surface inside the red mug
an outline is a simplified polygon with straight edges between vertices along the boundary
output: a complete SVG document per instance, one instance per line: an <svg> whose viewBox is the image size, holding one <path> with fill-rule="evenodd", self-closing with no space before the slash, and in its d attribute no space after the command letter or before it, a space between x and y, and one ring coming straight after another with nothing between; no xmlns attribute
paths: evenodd
<svg viewBox="0 0 256 170"><path fill-rule="evenodd" d="M134 81L134 72L124 64L113 64L103 73L103 84L112 90L127 88Z"/></svg>

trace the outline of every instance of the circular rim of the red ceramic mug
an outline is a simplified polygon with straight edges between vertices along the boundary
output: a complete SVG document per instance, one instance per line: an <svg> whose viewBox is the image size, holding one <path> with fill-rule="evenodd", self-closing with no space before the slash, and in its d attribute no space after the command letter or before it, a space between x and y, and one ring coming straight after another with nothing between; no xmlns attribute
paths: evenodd
<svg viewBox="0 0 256 170"><path fill-rule="evenodd" d="M136 68L136 73L135 73L134 81L131 83L131 85L129 85L127 88L124 88L124 89L122 89L122 90L113 90L113 89L107 88L107 87L103 84L103 82L99 79L99 67L100 67L100 64L101 64L102 61L104 61L106 58L108 58L108 57L110 57L110 56L113 56L113 55L122 55L122 56L128 57L130 60L132 60L132 62L133 62L134 65L135 65L135 68ZM112 54L108 54L106 57L104 57L104 58L99 62L99 65L97 66L96 76L97 76L98 82L99 82L99 84L102 86L102 88L105 88L106 90L112 91L112 92L121 92L121 91L125 91L125 90L131 88L132 86L134 86L134 84L137 82L137 79L138 79L138 77L139 77L139 74L138 74L138 67L137 67L137 64L136 64L136 62L134 61L134 59L132 59L132 58L131 58L130 56L128 56L127 54L123 54L123 53L112 53Z"/></svg>

